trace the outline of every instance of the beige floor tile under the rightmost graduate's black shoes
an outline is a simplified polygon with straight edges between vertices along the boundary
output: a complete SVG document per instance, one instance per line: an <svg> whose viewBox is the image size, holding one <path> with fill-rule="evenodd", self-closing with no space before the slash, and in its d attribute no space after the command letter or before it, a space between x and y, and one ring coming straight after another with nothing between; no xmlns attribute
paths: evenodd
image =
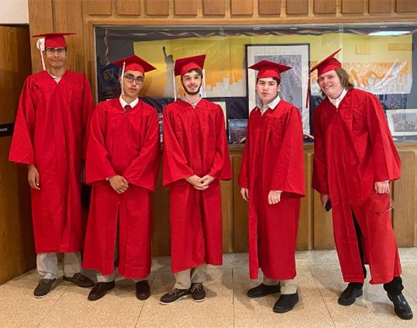
<svg viewBox="0 0 417 328"><path fill-rule="evenodd" d="M349 328L382 328L382 327L417 327L415 320L406 321L398 318L392 303L386 296L381 285L363 286L363 295L351 306L341 306L337 303L338 296L347 286L343 282L338 265L311 265L310 270L316 279L325 300L327 309L336 327ZM416 302L406 292L411 308L416 312Z"/></svg>

